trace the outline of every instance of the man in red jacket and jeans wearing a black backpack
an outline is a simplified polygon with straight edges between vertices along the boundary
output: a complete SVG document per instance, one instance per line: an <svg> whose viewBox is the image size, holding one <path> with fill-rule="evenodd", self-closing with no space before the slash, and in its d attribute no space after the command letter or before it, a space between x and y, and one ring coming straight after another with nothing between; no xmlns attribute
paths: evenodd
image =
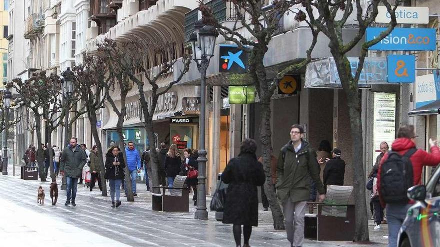
<svg viewBox="0 0 440 247"><path fill-rule="evenodd" d="M413 125L401 126L391 152L383 156L377 172L378 195L388 223L388 247L397 246L397 235L410 206L407 189L421 184L423 166L440 163L437 141L429 139L429 154L415 148L416 137Z"/></svg>

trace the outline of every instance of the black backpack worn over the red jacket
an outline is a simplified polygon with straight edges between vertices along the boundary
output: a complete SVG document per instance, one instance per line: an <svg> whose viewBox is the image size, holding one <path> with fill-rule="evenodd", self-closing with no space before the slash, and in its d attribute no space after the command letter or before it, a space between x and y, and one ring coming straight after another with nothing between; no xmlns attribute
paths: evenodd
<svg viewBox="0 0 440 247"><path fill-rule="evenodd" d="M380 169L380 195L385 203L407 203L406 191L413 184L412 164L409 157L417 151L409 149L403 156L388 152Z"/></svg>

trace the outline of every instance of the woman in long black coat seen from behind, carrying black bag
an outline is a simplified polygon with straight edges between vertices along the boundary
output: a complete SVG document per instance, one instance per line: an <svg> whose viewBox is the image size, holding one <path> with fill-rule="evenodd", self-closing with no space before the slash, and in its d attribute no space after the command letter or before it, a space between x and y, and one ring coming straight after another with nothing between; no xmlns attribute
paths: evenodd
<svg viewBox="0 0 440 247"><path fill-rule="evenodd" d="M229 161L221 174L221 181L229 184L223 210L223 223L233 224L232 231L237 247L241 246L241 225L243 226L243 247L249 246L252 226L258 226L257 186L264 184L263 166L256 160L256 143L244 139L238 157Z"/></svg>

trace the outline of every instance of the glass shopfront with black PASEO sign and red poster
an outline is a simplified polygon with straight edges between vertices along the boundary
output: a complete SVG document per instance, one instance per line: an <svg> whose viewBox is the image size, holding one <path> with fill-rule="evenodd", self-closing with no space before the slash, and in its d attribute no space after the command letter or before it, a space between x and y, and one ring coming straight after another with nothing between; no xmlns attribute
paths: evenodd
<svg viewBox="0 0 440 247"><path fill-rule="evenodd" d="M171 118L169 120L169 143L180 151L198 148L198 118Z"/></svg>

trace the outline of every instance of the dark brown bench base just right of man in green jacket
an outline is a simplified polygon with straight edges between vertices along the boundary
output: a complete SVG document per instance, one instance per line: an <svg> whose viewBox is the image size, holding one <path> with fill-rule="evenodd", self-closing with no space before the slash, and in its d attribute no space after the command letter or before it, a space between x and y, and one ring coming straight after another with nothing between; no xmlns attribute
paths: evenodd
<svg viewBox="0 0 440 247"><path fill-rule="evenodd" d="M331 192L330 192L331 193ZM332 195L329 195L331 197ZM317 205L316 214L305 214L304 218L304 237L317 241L351 241L354 236L354 205L352 204L324 204L313 203ZM327 208L325 208L327 207ZM345 212L343 216L330 211L332 209L341 209ZM334 213L334 214L333 214Z"/></svg>

